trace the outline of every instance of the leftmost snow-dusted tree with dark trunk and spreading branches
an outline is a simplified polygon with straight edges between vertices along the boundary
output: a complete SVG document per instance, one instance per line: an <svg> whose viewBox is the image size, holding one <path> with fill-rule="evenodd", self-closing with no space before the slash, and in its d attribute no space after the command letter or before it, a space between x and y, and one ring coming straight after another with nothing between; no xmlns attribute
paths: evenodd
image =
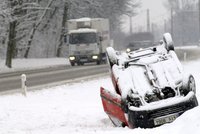
<svg viewBox="0 0 200 134"><path fill-rule="evenodd" d="M12 58L17 55L20 42L30 33L30 28L38 17L41 7L38 3L22 0L4 0L1 3L4 20L8 25L8 41L6 53L6 66L12 67ZM4 25L6 27L6 25Z"/></svg>

